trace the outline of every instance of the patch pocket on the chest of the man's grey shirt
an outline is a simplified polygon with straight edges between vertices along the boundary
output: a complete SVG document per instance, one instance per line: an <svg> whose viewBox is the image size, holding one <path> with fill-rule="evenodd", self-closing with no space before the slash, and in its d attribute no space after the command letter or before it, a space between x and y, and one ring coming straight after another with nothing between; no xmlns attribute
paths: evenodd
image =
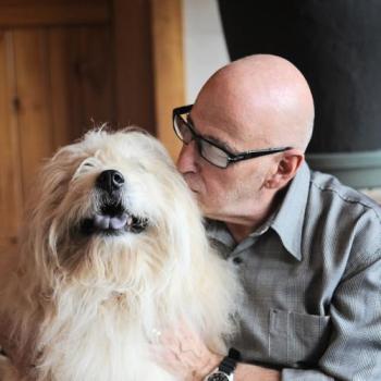
<svg viewBox="0 0 381 381"><path fill-rule="evenodd" d="M316 366L330 336L330 317L270 310L269 356L291 367Z"/></svg>

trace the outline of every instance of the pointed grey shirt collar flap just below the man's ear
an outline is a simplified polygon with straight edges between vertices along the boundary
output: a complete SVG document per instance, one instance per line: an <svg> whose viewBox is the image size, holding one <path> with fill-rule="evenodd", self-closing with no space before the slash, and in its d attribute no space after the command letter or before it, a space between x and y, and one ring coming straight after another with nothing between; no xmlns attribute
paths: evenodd
<svg viewBox="0 0 381 381"><path fill-rule="evenodd" d="M271 228L282 239L285 249L302 260L302 234L309 192L310 171L304 162L291 182Z"/></svg>

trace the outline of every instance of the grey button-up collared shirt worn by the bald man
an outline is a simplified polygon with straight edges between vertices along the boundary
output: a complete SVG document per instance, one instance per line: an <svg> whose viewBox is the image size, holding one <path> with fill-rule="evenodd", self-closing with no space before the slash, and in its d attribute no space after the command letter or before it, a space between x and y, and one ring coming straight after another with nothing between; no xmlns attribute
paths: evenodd
<svg viewBox="0 0 381 381"><path fill-rule="evenodd" d="M381 381L381 211L303 164L279 210L238 245L208 232L245 290L233 345L284 381Z"/></svg>

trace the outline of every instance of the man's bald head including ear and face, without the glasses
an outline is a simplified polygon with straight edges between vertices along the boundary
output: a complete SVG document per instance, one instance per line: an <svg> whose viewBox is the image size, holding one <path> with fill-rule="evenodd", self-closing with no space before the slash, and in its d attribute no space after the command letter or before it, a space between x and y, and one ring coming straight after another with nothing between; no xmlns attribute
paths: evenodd
<svg viewBox="0 0 381 381"><path fill-rule="evenodd" d="M266 218L293 179L312 133L314 100L300 72L275 56L250 56L214 73L190 111L195 132L232 153L292 147L220 169L184 145L177 160L207 217L250 223Z"/></svg>

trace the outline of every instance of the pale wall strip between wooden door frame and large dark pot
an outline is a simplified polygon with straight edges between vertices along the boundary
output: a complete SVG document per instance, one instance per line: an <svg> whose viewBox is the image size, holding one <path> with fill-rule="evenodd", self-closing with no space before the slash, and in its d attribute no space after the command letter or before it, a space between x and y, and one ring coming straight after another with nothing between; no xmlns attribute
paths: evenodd
<svg viewBox="0 0 381 381"><path fill-rule="evenodd" d="M186 102L193 103L208 77L230 59L217 0L183 0Z"/></svg>

